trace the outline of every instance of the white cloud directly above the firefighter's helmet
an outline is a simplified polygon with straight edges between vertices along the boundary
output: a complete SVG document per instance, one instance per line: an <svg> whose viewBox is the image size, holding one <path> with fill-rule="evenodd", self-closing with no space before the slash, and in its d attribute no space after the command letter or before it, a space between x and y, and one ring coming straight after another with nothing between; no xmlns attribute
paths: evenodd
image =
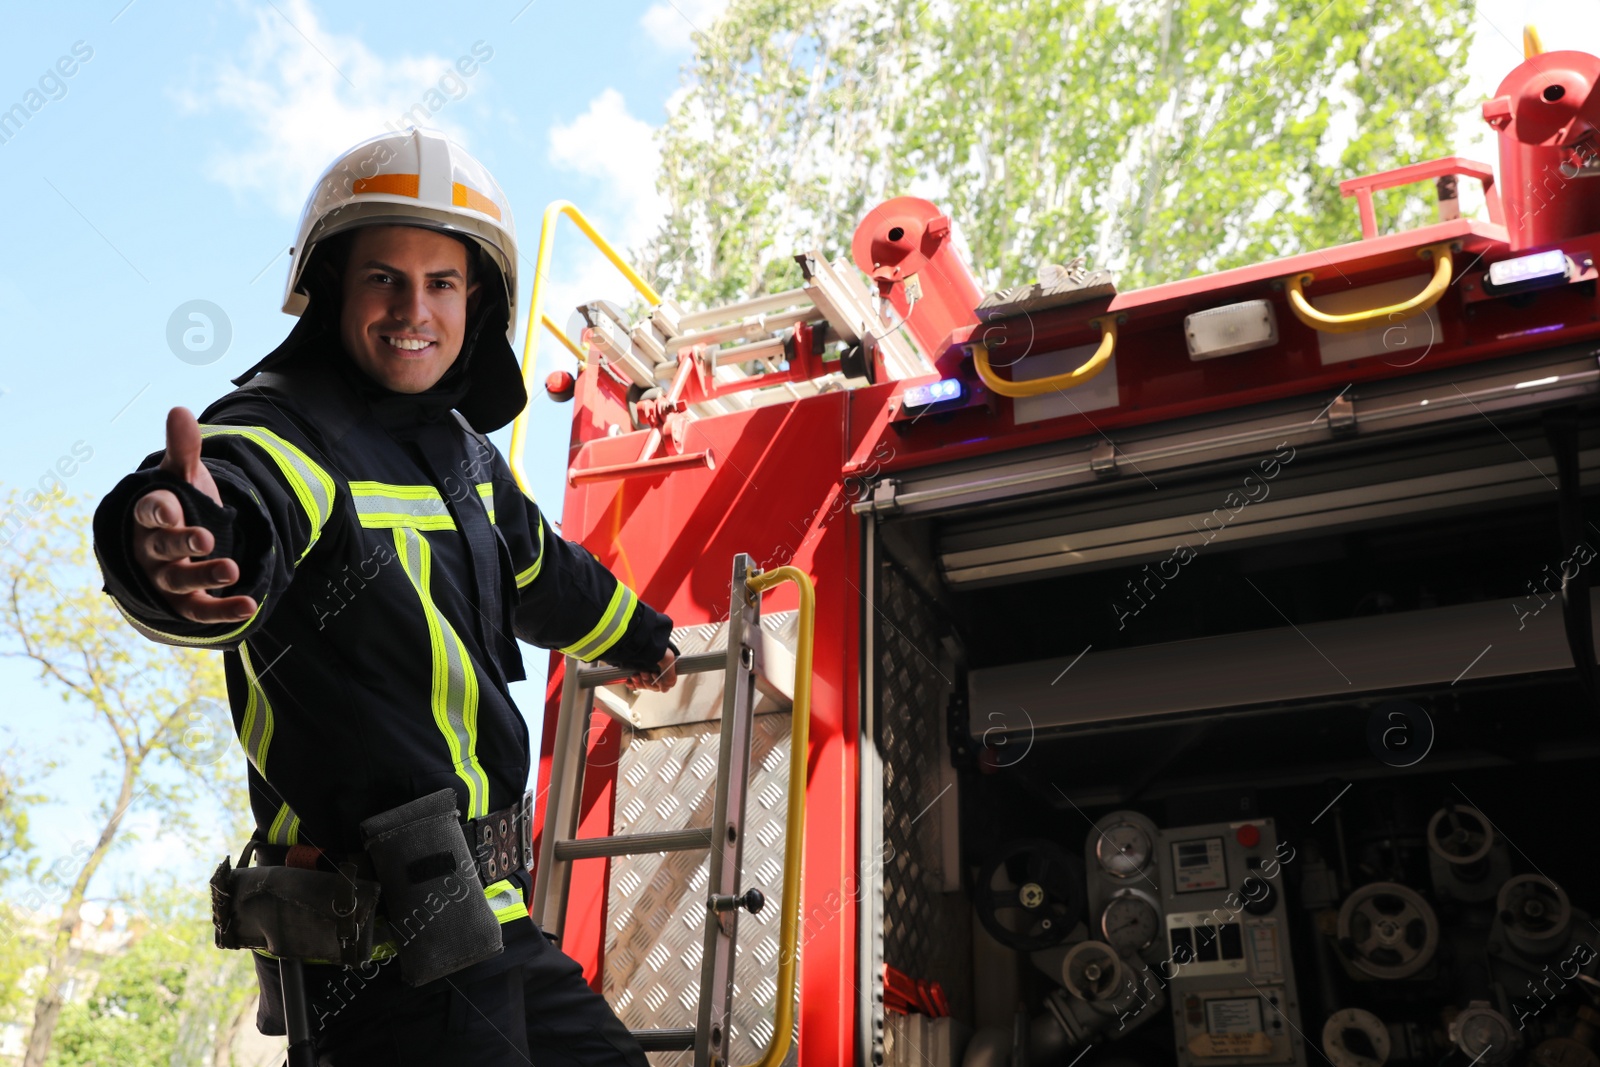
<svg viewBox="0 0 1600 1067"><path fill-rule="evenodd" d="M462 139L448 107L437 114L440 101L470 86L453 64L432 54L384 59L358 38L326 30L309 0L283 0L256 11L243 53L214 69L203 88L179 94L179 102L197 112L235 112L250 136L213 157L206 176L294 218L341 152L410 125L408 112ZM440 90L442 78L448 91ZM422 110L413 110L419 104Z"/></svg>

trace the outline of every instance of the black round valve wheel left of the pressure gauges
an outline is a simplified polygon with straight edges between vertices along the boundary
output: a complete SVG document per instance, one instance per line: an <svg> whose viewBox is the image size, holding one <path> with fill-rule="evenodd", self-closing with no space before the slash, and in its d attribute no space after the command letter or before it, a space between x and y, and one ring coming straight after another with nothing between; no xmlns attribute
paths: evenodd
<svg viewBox="0 0 1600 1067"><path fill-rule="evenodd" d="M1054 841L1011 841L978 873L973 901L1000 944L1018 952L1050 949L1083 918L1083 872Z"/></svg>

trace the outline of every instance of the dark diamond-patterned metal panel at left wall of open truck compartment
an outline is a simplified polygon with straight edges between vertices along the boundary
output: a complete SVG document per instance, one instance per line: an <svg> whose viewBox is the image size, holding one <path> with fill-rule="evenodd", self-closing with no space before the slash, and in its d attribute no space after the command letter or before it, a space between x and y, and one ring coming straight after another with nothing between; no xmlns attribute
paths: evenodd
<svg viewBox="0 0 1600 1067"><path fill-rule="evenodd" d="M939 731L949 681L941 673L938 617L891 566L878 571L878 723L883 750L883 961L934 977L952 941L946 923L939 797Z"/></svg>

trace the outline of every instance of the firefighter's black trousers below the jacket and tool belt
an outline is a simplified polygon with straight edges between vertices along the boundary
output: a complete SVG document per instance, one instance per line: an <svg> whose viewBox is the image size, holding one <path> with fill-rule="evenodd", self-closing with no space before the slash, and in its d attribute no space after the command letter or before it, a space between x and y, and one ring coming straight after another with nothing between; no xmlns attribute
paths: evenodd
<svg viewBox="0 0 1600 1067"><path fill-rule="evenodd" d="M326 974L320 982L307 974L318 1064L650 1067L571 957L549 944L531 920L506 934L514 963L490 974L478 965L418 989L398 984L392 965L368 982L357 971ZM259 977L266 1000L270 979L266 973Z"/></svg>

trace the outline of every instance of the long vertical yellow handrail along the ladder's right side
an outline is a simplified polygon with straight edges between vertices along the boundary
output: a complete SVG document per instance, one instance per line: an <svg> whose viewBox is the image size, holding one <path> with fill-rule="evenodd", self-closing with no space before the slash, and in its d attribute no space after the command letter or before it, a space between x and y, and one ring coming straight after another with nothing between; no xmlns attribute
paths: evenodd
<svg viewBox="0 0 1600 1067"><path fill-rule="evenodd" d="M784 894L778 926L778 1005L766 1053L750 1067L778 1067L789 1054L795 1027L795 957L800 952L800 864L805 859L805 771L811 745L811 635L816 619L816 589L797 566L779 566L744 579L746 589L760 597L768 589L794 582L800 592L800 638L795 651L794 725L789 731L789 813L784 824Z"/></svg>

